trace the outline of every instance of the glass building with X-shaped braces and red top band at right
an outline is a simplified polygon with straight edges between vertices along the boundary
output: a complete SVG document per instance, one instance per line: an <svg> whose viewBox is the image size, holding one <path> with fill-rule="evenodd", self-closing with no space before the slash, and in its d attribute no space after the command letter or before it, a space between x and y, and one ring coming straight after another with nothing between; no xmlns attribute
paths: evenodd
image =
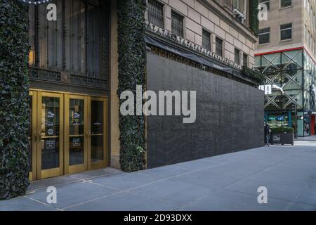
<svg viewBox="0 0 316 225"><path fill-rule="evenodd" d="M265 75L265 122L294 127L298 136L315 134L316 64L303 48L257 54L255 67Z"/></svg>

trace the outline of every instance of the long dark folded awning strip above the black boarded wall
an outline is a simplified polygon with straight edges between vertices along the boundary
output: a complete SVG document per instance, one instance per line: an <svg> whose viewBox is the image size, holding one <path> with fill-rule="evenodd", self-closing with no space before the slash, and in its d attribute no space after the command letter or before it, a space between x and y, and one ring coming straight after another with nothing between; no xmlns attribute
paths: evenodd
<svg viewBox="0 0 316 225"><path fill-rule="evenodd" d="M214 68L216 70L222 70L224 72L228 72L232 74L232 68L225 67L223 65L220 65L218 63L213 63L211 60L204 58L202 56L197 56L195 53L190 53L189 51L184 51L183 49L177 48L176 46L173 46L171 44L167 44L164 41L160 41L159 39L155 39L154 37L150 37L146 35L145 41L147 44L157 46L160 49L164 49L166 51L170 51L172 53L175 53L179 56L182 56L184 58L193 60L197 63L201 63L202 65L206 65L210 68Z"/></svg>

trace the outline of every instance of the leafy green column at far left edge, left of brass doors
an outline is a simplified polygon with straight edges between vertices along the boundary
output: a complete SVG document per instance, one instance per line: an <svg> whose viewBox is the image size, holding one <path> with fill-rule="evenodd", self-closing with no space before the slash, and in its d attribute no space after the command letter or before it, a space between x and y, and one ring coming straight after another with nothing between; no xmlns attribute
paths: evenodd
<svg viewBox="0 0 316 225"><path fill-rule="evenodd" d="M28 7L0 1L0 199L29 185Z"/></svg>

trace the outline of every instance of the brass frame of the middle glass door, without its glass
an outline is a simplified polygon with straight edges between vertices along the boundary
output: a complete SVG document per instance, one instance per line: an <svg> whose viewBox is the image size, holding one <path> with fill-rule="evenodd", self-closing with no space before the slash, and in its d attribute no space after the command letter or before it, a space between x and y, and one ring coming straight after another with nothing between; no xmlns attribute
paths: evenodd
<svg viewBox="0 0 316 225"><path fill-rule="evenodd" d="M70 110L70 99L81 99L84 100L84 164L81 165L70 165L70 146L69 146L69 110ZM88 96L65 94L65 174L75 174L88 170Z"/></svg>

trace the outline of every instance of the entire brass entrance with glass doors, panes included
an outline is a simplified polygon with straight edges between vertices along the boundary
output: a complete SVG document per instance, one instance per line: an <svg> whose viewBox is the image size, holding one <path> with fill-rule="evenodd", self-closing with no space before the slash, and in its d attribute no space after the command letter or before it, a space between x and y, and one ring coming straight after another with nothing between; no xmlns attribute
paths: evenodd
<svg viewBox="0 0 316 225"><path fill-rule="evenodd" d="M29 179L107 166L107 98L29 91Z"/></svg>

